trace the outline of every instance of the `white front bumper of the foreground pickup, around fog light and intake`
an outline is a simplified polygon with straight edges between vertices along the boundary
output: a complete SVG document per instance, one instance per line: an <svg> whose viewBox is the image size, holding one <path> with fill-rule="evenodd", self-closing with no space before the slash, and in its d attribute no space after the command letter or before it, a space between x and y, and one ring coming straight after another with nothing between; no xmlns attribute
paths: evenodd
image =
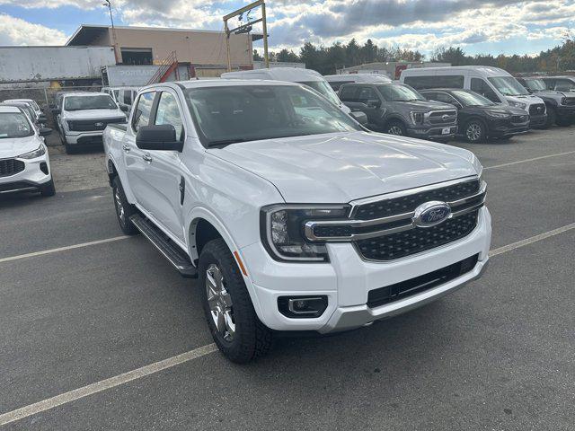
<svg viewBox="0 0 575 431"><path fill-rule="evenodd" d="M456 291L480 277L488 261L491 245L491 216L486 207L479 212L472 233L456 242L403 259L372 262L360 258L350 243L329 243L330 263L296 264L270 258L261 242L241 250L250 278L248 289L261 321L272 330L314 330L321 333L351 330L373 321L408 312L443 295ZM478 255L469 272L416 295L367 306L370 291L391 286L446 268ZM291 319L279 312L280 296L325 295L327 309L318 318Z"/></svg>

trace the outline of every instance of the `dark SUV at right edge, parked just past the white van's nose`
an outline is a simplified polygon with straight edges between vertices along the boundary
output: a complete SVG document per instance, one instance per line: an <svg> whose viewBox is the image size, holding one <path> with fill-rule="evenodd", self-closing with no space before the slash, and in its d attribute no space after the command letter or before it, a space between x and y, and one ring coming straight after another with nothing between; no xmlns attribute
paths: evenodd
<svg viewBox="0 0 575 431"><path fill-rule="evenodd" d="M518 77L517 81L526 88L527 92L535 94L545 102L547 126L553 123L558 126L569 126L575 120L575 92L549 90L544 79L536 76Z"/></svg>

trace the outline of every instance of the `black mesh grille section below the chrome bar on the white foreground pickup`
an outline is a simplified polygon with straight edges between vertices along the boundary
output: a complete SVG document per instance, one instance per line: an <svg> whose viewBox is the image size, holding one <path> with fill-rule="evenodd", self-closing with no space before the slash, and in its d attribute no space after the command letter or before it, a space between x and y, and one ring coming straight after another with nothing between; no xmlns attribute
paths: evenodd
<svg viewBox="0 0 575 431"><path fill-rule="evenodd" d="M472 233L478 214L479 210L475 210L437 226L415 227L409 231L361 240L357 242L358 251L365 259L393 260L434 249Z"/></svg>

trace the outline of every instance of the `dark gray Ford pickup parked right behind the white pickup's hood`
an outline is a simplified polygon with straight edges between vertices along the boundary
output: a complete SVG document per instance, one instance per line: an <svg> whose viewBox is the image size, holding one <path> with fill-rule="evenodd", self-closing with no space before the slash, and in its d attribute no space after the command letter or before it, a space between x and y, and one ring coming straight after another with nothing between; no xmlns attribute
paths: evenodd
<svg viewBox="0 0 575 431"><path fill-rule="evenodd" d="M367 128L390 135L448 140L457 133L453 105L427 101L406 84L343 84L339 96L367 115Z"/></svg>

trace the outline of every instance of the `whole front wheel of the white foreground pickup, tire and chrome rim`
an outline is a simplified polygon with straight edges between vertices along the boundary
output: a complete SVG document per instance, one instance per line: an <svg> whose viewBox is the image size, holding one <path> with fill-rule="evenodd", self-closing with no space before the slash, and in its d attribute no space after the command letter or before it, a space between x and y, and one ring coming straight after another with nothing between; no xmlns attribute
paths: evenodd
<svg viewBox="0 0 575 431"><path fill-rule="evenodd" d="M199 255L199 286L209 331L232 362L245 364L270 350L271 331L258 319L242 274L224 240Z"/></svg>

